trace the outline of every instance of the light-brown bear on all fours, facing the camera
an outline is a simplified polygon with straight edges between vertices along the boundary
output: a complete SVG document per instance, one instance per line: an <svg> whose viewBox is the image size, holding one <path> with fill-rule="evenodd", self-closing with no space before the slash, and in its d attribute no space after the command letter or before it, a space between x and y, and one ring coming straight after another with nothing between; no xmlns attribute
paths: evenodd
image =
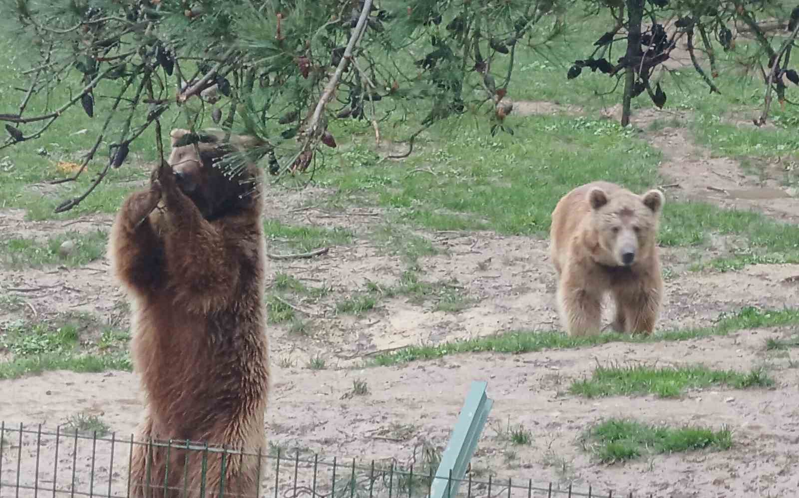
<svg viewBox="0 0 799 498"><path fill-rule="evenodd" d="M598 334L602 298L614 298L611 324L626 334L651 334L660 314L663 280L658 223L665 197L638 196L597 181L574 188L552 211L550 251L558 274L558 309L569 335Z"/></svg>

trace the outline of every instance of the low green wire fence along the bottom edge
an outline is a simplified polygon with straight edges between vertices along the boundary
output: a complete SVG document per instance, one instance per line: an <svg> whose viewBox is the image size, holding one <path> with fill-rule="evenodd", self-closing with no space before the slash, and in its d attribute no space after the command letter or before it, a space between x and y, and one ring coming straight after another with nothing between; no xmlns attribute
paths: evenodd
<svg viewBox="0 0 799 498"><path fill-rule="evenodd" d="M54 432L41 425L29 429L0 422L0 498L57 498L69 496L144 496L132 492L130 468L135 445L184 454L187 461L201 465L221 458L229 462L244 457L260 461L259 486L249 498L423 498L429 496L435 480L447 480L447 489L458 489L467 498L533 498L543 496L633 496L590 487L574 489L532 479L473 479L471 472L461 480L435 476L435 464L404 467L394 459L358 464L355 459L323 457L312 453L276 449L268 453L244 453L193 441L135 441L88 435L77 429ZM191 456L191 458L189 458ZM255 460L253 460L255 461ZM224 472L223 472L224 473ZM453 486L458 482L458 486ZM151 482L148 498L242 496L222 489L213 490ZM447 492L444 496L449 496ZM453 498L455 495L452 495Z"/></svg>

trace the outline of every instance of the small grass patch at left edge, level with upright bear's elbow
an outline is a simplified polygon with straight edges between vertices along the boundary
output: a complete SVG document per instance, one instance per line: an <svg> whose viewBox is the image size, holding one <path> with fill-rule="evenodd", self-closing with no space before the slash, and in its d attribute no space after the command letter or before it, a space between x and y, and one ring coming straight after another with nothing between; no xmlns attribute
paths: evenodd
<svg viewBox="0 0 799 498"><path fill-rule="evenodd" d="M105 254L108 234L97 230L88 233L67 232L39 242L34 239L6 239L0 242L0 263L7 267L43 267L60 264L80 267L100 259ZM65 251L62 244L74 246Z"/></svg>

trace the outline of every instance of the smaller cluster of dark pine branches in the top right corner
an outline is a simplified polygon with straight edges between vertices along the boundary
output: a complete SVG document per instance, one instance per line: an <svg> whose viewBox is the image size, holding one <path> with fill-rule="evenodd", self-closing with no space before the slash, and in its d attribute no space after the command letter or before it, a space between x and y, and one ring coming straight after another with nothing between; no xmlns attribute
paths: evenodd
<svg viewBox="0 0 799 498"><path fill-rule="evenodd" d="M718 77L713 41L725 52L733 49L735 41L731 26L745 26L760 47L759 57L749 61L759 65L767 87L763 114L754 124L765 123L771 100L771 91L777 93L781 103L785 99L785 79L799 85L796 69L789 67L790 50L799 30L799 6L793 8L789 22L784 27L786 39L775 49L766 38L757 18L771 16L785 18L784 6L778 0L588 0L594 10L608 10L614 26L602 34L594 43L593 53L586 59L574 61L566 77L578 77L582 69L599 70L617 81L625 79L622 102L622 125L630 121L630 101L648 94L654 105L662 108L666 104L666 92L658 81L651 84L651 77L659 65L670 58L678 41L685 38L694 69L708 85L710 93L721 93L714 78ZM645 23L648 26L645 28ZM624 29L625 34L620 34ZM671 31L671 33L669 33ZM699 41L699 46L697 45ZM614 62L609 61L614 43L622 42L625 51ZM706 54L710 64L710 76L700 64L697 51ZM608 54L605 57L605 54ZM763 60L765 59L765 67ZM785 78L785 79L784 79Z"/></svg>

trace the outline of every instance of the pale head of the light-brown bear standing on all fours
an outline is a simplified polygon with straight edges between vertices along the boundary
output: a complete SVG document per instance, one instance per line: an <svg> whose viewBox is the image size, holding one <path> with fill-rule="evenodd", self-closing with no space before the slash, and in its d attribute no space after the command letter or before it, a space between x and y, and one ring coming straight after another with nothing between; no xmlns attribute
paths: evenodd
<svg viewBox="0 0 799 498"><path fill-rule="evenodd" d="M666 202L662 192L652 189L638 196L622 189L610 195L594 187L587 196L599 246L610 259L629 267L651 254Z"/></svg>

